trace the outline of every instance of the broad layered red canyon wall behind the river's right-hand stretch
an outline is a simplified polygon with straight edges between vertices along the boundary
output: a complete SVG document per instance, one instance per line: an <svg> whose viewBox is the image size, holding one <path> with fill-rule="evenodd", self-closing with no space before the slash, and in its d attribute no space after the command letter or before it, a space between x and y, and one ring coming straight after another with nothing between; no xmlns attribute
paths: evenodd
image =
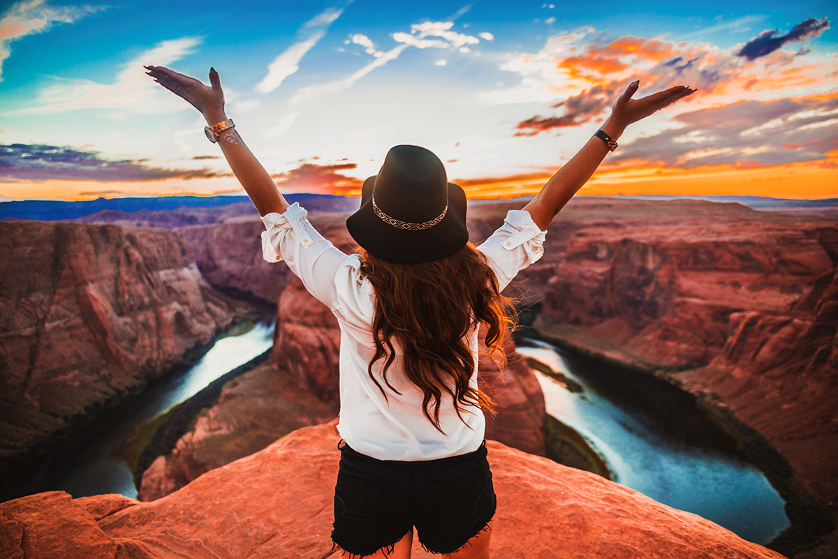
<svg viewBox="0 0 838 559"><path fill-rule="evenodd" d="M822 224L731 218L586 224L553 270L536 327L649 370L706 365L732 314L787 309L835 260Z"/></svg>

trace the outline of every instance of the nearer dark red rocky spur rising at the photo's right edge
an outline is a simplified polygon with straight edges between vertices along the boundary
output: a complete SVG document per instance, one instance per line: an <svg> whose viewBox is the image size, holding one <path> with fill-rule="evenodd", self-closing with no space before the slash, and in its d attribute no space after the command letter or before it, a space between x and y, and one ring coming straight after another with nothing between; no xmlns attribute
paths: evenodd
<svg viewBox="0 0 838 559"><path fill-rule="evenodd" d="M672 375L758 430L835 514L838 502L838 269L784 312L732 315L706 367ZM832 536L832 549L838 537Z"/></svg>

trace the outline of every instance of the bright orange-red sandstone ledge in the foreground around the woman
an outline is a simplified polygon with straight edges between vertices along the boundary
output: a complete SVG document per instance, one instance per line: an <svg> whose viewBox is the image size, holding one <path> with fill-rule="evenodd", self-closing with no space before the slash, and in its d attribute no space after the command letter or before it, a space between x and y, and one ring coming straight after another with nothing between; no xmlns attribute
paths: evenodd
<svg viewBox="0 0 838 559"><path fill-rule="evenodd" d="M0 504L9 559L337 559L329 533L338 473L333 423L302 428L256 454L140 503L55 491ZM499 507L494 559L772 557L697 515L597 475L489 442ZM414 556L429 557L415 542Z"/></svg>

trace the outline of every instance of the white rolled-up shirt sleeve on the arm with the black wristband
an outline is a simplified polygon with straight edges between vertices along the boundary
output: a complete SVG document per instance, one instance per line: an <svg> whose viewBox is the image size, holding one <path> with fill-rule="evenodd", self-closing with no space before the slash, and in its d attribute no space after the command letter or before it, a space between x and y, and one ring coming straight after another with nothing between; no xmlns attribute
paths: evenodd
<svg viewBox="0 0 838 559"><path fill-rule="evenodd" d="M501 290L521 269L541 258L545 235L546 232L538 228L529 212L510 210L504 224L478 247L489 259L489 266L494 269Z"/></svg>

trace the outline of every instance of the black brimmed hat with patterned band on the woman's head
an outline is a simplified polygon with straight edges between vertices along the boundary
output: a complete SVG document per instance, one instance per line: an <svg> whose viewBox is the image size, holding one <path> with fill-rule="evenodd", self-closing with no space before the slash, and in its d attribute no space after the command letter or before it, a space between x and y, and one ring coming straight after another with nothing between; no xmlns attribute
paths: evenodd
<svg viewBox="0 0 838 559"><path fill-rule="evenodd" d="M432 151L395 146L361 188L346 220L355 242L380 259L414 264L446 258L468 243L466 195L448 182Z"/></svg>

